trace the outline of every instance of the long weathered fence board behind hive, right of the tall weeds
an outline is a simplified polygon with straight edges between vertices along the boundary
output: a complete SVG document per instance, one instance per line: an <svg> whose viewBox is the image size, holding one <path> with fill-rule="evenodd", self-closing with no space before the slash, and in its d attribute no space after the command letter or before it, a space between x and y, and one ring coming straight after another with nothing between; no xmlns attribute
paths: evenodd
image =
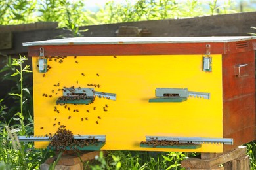
<svg viewBox="0 0 256 170"><path fill-rule="evenodd" d="M80 27L89 29L85 37L116 37L119 27L146 28L150 34L147 37L186 37L186 36L238 36L253 32L256 12L242 12L183 19L151 20L141 22L125 22L117 24L90 25Z"/></svg>

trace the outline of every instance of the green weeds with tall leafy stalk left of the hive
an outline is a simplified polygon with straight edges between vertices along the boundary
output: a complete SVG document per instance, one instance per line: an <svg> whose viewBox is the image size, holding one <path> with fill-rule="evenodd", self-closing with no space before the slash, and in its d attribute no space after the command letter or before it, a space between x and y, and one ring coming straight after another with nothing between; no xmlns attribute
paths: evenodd
<svg viewBox="0 0 256 170"><path fill-rule="evenodd" d="M26 104L24 100L24 92L28 92L27 88L24 88L24 73L30 73L29 66L23 67L24 61L27 58L20 56L18 59L12 59L11 65L17 67L11 77L18 77L19 80L19 93L10 93L10 95L17 97L20 103L20 112L16 113L12 118L16 120L16 124L10 125L10 121L5 119L0 122L0 162L2 167L6 169L39 169L39 165L42 161L52 155L52 152L48 150L37 150L33 148L33 143L20 143L18 141L17 133L19 135L33 135L33 119L30 116L27 120L27 124L24 123L24 110L23 105ZM10 68L11 65L9 65ZM5 113L5 105L3 105L3 99L0 100L0 113L1 116Z"/></svg>

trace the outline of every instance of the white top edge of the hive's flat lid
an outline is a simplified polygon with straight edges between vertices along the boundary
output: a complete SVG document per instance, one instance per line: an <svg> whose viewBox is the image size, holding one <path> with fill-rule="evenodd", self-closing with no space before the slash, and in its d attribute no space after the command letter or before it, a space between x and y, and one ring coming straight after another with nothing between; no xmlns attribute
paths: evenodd
<svg viewBox="0 0 256 170"><path fill-rule="evenodd" d="M83 44L169 44L236 42L256 39L256 36L226 37L74 37L46 41L24 42L23 46L83 45Z"/></svg>

